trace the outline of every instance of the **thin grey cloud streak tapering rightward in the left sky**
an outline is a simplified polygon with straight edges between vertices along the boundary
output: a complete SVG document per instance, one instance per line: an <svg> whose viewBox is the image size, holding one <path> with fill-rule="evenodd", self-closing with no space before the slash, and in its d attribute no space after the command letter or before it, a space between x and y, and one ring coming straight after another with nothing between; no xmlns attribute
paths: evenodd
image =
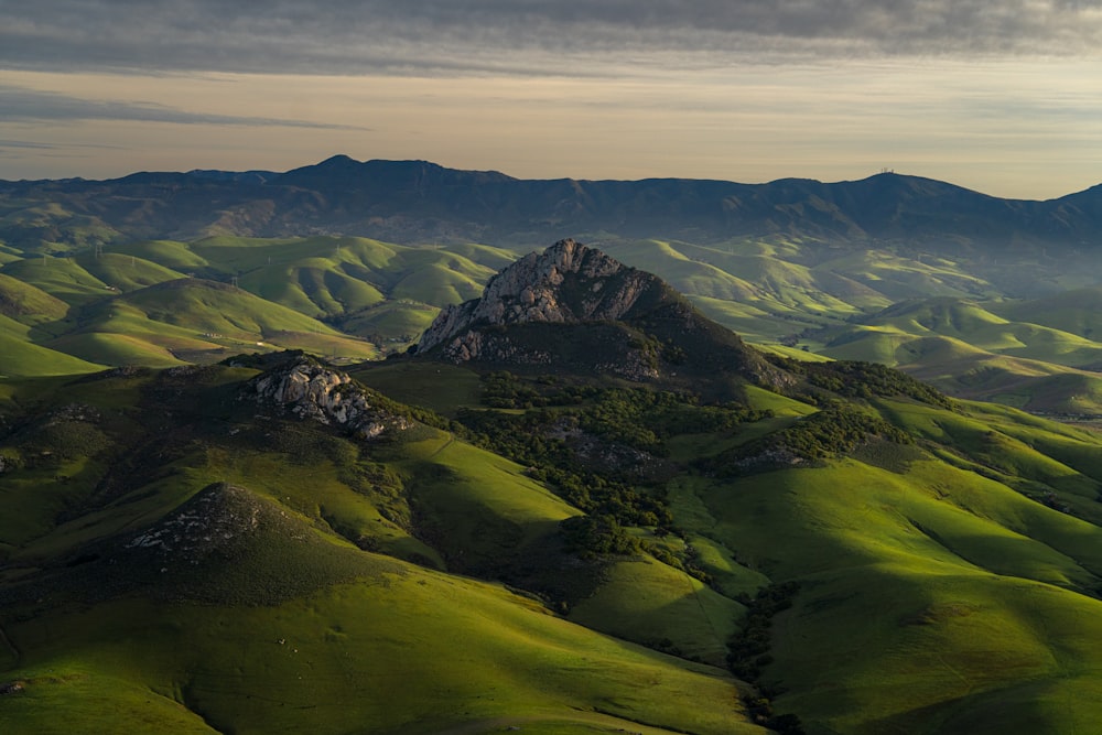
<svg viewBox="0 0 1102 735"><path fill-rule="evenodd" d="M46 120L131 120L177 125L259 126L326 130L361 129L307 120L188 112L155 102L86 99L53 91L0 85L0 123ZM28 143L26 145L32 147L33 144Z"/></svg>

